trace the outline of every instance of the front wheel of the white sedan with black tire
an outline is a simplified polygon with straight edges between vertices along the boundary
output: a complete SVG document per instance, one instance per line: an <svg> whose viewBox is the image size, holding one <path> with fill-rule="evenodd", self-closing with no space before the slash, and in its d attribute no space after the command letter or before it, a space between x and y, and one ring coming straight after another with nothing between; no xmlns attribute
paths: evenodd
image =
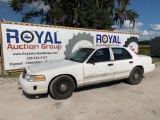
<svg viewBox="0 0 160 120"><path fill-rule="evenodd" d="M67 75L56 77L49 86L50 93L55 99L66 99L71 97L74 89L74 80Z"/></svg>

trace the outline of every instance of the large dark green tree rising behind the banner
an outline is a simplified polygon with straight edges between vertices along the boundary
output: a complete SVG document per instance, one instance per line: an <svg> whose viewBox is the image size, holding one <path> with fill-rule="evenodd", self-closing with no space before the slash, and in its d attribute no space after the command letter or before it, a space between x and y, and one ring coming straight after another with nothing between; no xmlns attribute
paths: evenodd
<svg viewBox="0 0 160 120"><path fill-rule="evenodd" d="M11 0L13 11L22 14L22 22L33 22L69 27L113 30L125 20L135 25L138 14L127 10L130 0Z"/></svg>

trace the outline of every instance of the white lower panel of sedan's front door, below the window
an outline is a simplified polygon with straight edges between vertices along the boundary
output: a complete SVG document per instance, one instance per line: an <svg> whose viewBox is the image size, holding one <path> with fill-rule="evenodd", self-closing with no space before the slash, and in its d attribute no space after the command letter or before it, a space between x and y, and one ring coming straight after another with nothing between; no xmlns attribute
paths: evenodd
<svg viewBox="0 0 160 120"><path fill-rule="evenodd" d="M113 80L113 61L100 63L84 63L84 85Z"/></svg>

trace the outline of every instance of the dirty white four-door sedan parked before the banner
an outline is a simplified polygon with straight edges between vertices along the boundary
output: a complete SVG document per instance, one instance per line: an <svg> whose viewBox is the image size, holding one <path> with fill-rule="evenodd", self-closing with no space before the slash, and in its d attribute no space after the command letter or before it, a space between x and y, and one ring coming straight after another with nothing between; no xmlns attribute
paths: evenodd
<svg viewBox="0 0 160 120"><path fill-rule="evenodd" d="M152 58L136 55L124 47L84 47L61 60L43 62L25 68L19 84L27 94L50 92L56 99L69 98L75 88L127 79L139 84L144 73L152 72Z"/></svg>

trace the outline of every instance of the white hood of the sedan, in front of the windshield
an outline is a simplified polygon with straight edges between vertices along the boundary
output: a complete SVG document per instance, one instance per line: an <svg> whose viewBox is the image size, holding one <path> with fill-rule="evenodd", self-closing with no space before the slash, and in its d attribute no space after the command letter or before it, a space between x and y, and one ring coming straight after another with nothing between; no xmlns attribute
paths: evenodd
<svg viewBox="0 0 160 120"><path fill-rule="evenodd" d="M47 71L47 70L51 70L51 69L58 69L58 68L64 69L64 67L73 66L73 65L77 65L77 64L79 64L79 63L74 62L74 61L70 61L70 60L66 60L66 59L60 59L60 60L42 62L39 64L31 65L28 68L32 72L38 73L38 72L43 72L43 71Z"/></svg>

